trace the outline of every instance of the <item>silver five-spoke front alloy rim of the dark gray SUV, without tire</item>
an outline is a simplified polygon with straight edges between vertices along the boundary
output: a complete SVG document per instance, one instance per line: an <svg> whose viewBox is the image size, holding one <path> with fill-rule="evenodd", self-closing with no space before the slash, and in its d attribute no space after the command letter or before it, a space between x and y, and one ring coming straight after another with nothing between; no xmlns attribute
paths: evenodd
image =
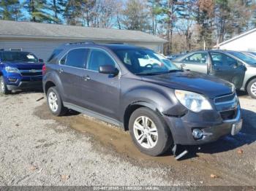
<svg viewBox="0 0 256 191"><path fill-rule="evenodd" d="M154 148L158 141L157 126L146 116L138 117L133 125L135 139L141 147Z"/></svg>

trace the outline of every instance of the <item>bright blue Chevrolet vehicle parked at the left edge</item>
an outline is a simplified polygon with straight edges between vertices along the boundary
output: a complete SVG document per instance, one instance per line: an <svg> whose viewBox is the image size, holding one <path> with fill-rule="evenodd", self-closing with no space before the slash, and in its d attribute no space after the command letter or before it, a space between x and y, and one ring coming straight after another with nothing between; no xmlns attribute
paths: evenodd
<svg viewBox="0 0 256 191"><path fill-rule="evenodd" d="M0 51L0 92L42 88L42 62L31 52Z"/></svg>

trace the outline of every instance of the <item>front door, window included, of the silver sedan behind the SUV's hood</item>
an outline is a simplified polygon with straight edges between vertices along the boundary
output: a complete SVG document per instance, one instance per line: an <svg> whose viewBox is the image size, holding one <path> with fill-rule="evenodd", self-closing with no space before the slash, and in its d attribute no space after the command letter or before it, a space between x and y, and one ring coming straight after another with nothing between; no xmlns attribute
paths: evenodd
<svg viewBox="0 0 256 191"><path fill-rule="evenodd" d="M222 52L210 52L210 73L220 79L225 79L240 89L244 82L244 66L235 58Z"/></svg>

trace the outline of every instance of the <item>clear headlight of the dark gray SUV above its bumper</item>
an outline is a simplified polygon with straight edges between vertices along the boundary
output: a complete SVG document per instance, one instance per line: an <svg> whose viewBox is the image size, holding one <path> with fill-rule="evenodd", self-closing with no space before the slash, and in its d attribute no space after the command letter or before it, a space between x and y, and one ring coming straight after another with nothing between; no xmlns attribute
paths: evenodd
<svg viewBox="0 0 256 191"><path fill-rule="evenodd" d="M202 110L211 110L211 104L209 101L198 93L193 93L184 90L175 90L176 98L182 105L192 112L200 112Z"/></svg>

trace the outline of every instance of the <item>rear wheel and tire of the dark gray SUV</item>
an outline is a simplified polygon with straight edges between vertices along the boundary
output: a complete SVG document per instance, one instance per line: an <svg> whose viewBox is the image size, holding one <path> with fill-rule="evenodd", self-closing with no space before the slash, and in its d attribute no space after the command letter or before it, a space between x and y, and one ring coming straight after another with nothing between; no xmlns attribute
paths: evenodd
<svg viewBox="0 0 256 191"><path fill-rule="evenodd" d="M67 108L64 107L61 96L56 87L50 87L47 92L47 103L50 112L56 116L62 116L67 113Z"/></svg>

